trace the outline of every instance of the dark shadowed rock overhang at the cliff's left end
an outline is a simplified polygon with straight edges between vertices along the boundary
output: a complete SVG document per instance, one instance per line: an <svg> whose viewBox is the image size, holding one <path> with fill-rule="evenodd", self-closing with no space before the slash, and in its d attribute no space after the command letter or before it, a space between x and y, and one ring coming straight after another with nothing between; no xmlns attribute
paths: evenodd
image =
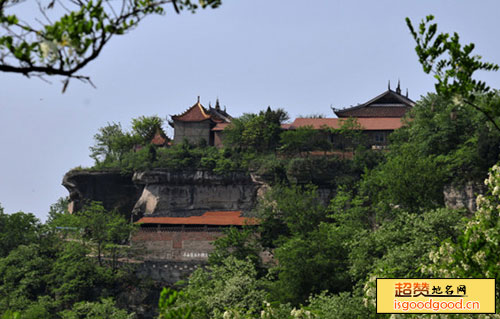
<svg viewBox="0 0 500 319"><path fill-rule="evenodd" d="M81 210L90 201L99 201L105 209L117 210L127 217L144 188L132 181L131 174L111 170L72 170L64 175L62 185L69 191L72 211Z"/></svg>

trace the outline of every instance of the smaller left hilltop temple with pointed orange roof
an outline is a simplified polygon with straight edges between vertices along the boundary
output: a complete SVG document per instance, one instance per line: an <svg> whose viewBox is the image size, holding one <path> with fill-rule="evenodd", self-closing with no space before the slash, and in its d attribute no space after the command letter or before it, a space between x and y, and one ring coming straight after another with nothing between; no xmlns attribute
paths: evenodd
<svg viewBox="0 0 500 319"><path fill-rule="evenodd" d="M222 110L219 99L215 107L209 105L208 109L198 101L182 114L172 115L170 126L174 128L174 144L189 143L210 146L222 145L222 131L231 123L231 116Z"/></svg>

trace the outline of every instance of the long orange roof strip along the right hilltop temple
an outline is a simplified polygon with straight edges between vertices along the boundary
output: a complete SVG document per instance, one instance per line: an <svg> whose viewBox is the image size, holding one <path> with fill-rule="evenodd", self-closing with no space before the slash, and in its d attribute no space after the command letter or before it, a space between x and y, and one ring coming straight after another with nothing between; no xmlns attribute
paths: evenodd
<svg viewBox="0 0 500 319"><path fill-rule="evenodd" d="M314 129L319 130L323 127L339 129L342 126L344 119L338 118L297 118L293 121L291 129L312 126ZM383 131L383 130L396 130L403 126L400 118L394 117L363 117L357 118L358 123L365 131Z"/></svg>

